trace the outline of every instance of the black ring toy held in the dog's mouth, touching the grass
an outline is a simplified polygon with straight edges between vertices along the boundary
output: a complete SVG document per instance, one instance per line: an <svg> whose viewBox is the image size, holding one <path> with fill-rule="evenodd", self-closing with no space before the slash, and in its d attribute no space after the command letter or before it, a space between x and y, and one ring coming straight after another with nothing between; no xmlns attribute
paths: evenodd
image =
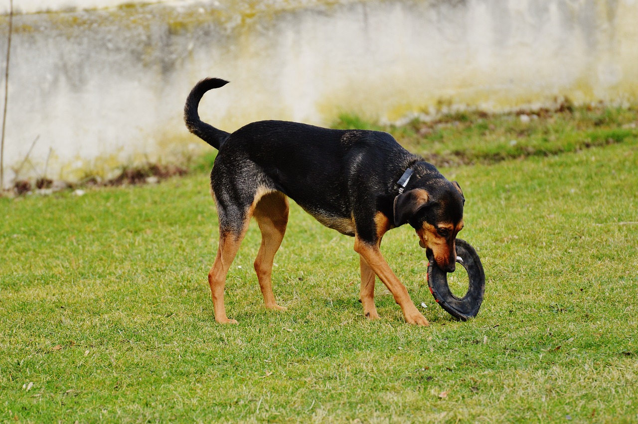
<svg viewBox="0 0 638 424"><path fill-rule="evenodd" d="M463 265L470 279L467 293L462 298L452 294L447 284L447 272L441 270L433 258L428 258L427 285L441 308L454 318L467 321L479 313L485 293L485 273L479 255L465 240L456 239L456 254L457 262Z"/></svg>

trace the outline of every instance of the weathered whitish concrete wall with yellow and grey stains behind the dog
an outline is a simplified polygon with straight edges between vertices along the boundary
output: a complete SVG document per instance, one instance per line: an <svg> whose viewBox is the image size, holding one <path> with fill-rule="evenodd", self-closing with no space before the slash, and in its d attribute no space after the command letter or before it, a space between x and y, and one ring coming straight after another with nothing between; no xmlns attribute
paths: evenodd
<svg viewBox="0 0 638 424"><path fill-rule="evenodd" d="M18 0L5 180L108 177L209 148L182 122L202 77L205 121L395 121L441 105L500 111L638 99L637 0L217 0L80 10ZM48 6L47 6L48 7ZM69 8L74 11L68 11ZM75 9L74 9L75 8ZM0 69L8 20L0 18ZM0 77L4 87L4 75ZM0 88L0 96L4 89ZM1 97L0 97L1 98ZM47 163L48 158L48 163Z"/></svg>

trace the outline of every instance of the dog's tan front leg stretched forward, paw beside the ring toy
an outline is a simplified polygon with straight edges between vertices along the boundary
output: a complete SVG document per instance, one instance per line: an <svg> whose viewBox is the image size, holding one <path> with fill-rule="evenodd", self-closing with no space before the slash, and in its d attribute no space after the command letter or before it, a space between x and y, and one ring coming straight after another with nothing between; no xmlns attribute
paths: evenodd
<svg viewBox="0 0 638 424"><path fill-rule="evenodd" d="M390 293L394 296L394 300L401 307L403 316L408 324L429 325L427 319L412 302L408 294L408 289L405 288L396 274L390 269L390 266L383 258L376 243L365 242L357 235L355 236L355 252L361 255L361 258L367 262L367 265L369 265L375 274L378 275L379 279L383 281L383 284L390 290Z"/></svg>

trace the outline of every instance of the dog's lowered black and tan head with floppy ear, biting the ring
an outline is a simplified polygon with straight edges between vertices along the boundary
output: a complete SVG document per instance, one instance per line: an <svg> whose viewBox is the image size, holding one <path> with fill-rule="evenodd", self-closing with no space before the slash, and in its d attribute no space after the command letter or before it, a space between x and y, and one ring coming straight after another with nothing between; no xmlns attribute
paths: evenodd
<svg viewBox="0 0 638 424"><path fill-rule="evenodd" d="M394 198L394 225L409 223L419 245L431 252L441 270L456 269L456 235L463 229L463 191L456 181L430 180Z"/></svg>

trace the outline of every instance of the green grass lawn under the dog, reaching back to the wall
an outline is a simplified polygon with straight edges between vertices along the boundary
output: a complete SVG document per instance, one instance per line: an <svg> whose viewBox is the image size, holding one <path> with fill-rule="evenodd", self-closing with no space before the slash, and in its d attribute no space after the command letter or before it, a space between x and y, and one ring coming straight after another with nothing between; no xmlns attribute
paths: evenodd
<svg viewBox="0 0 638 424"><path fill-rule="evenodd" d="M0 198L0 420L637 422L635 111L579 113L392 129L455 164L487 277L466 323L434 302L408 226L382 251L431 326L380 282L367 321L353 239L292 205L273 272L288 311L262 306L253 223L226 286L239 325L217 325L207 172Z"/></svg>

